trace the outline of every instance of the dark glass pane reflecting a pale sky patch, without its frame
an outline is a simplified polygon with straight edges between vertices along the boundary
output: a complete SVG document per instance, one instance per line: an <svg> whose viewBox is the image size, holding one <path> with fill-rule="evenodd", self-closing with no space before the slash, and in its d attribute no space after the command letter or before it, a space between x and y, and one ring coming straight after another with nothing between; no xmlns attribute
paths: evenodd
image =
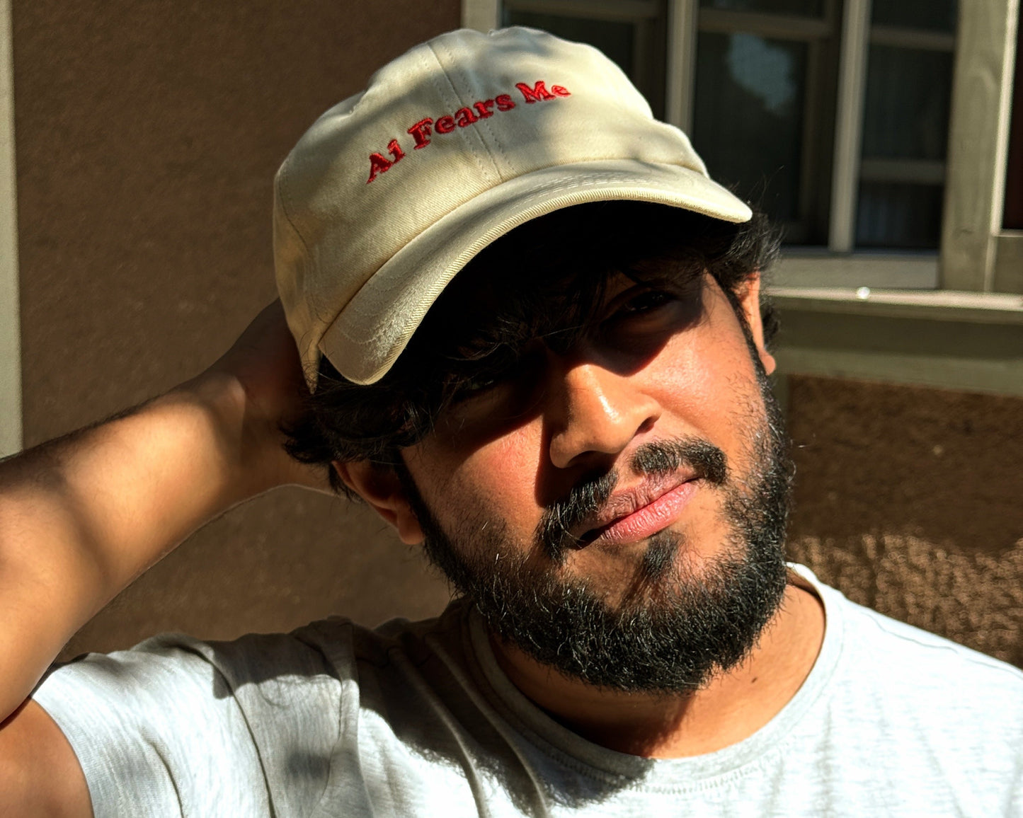
<svg viewBox="0 0 1023 818"><path fill-rule="evenodd" d="M799 216L806 44L701 33L693 142L711 176L771 217Z"/></svg>

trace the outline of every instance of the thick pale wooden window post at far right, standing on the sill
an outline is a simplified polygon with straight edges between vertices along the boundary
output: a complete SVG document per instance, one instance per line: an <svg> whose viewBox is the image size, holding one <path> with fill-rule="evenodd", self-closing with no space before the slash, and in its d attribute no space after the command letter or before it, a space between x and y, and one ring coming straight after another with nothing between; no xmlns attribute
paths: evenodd
<svg viewBox="0 0 1023 818"><path fill-rule="evenodd" d="M960 2L941 286L989 291L1006 184L1019 0Z"/></svg>

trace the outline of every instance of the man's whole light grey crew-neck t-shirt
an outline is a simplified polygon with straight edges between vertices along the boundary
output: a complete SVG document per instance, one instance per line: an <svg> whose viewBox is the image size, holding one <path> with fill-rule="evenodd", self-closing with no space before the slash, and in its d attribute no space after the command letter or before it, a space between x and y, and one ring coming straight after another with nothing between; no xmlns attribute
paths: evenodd
<svg viewBox="0 0 1023 818"><path fill-rule="evenodd" d="M97 816L1023 816L1023 673L853 604L744 741L650 760L562 727L503 675L478 615L375 631L149 639L35 698Z"/></svg>

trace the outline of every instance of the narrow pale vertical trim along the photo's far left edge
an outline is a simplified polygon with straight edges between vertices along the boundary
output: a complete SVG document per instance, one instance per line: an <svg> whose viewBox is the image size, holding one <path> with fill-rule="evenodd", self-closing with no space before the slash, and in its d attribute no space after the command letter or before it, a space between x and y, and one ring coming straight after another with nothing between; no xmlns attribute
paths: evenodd
<svg viewBox="0 0 1023 818"><path fill-rule="evenodd" d="M21 450L21 322L11 0L0 0L0 457Z"/></svg>

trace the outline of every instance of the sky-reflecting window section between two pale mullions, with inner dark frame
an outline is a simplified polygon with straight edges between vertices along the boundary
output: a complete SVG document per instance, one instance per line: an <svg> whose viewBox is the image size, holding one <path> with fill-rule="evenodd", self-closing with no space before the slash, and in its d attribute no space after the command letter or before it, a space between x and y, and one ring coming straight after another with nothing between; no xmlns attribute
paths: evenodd
<svg viewBox="0 0 1023 818"><path fill-rule="evenodd" d="M828 243L838 37L836 3L702 0L691 135L718 181Z"/></svg>

